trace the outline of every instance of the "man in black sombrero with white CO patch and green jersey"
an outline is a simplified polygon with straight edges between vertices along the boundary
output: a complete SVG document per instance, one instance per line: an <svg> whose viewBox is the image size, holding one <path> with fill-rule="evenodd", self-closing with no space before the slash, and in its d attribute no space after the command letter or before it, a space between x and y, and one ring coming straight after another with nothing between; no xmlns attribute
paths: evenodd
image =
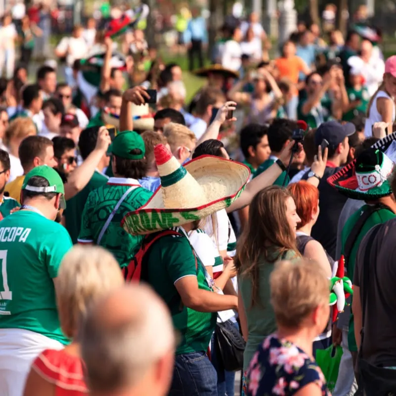
<svg viewBox="0 0 396 396"><path fill-rule="evenodd" d="M349 217L342 232L341 254L345 259L349 279L353 279L356 254L364 236L375 225L385 223L396 216L395 197L388 180L393 169L394 163L384 152L368 148L355 162L348 164L328 179L328 183L344 196L364 200L366 203ZM359 299L358 296L355 298ZM361 317L356 319L361 321ZM350 316L347 340L355 365L357 347L353 314Z"/></svg>

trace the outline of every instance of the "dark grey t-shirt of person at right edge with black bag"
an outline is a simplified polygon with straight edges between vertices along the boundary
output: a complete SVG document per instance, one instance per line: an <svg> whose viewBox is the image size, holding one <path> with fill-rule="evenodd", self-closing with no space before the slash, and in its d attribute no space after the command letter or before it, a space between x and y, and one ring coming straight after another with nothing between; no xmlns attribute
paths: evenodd
<svg viewBox="0 0 396 396"><path fill-rule="evenodd" d="M371 247L372 234L363 238L356 255L353 285L359 287L363 307L363 264L369 254L369 285L364 318L363 358L384 367L396 366L396 218L382 224Z"/></svg>

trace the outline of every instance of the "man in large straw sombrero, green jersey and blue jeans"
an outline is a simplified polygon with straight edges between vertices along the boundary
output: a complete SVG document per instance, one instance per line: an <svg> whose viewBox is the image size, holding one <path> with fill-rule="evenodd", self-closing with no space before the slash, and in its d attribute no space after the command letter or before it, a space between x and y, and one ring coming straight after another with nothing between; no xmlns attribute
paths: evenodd
<svg viewBox="0 0 396 396"><path fill-rule="evenodd" d="M217 376L206 350L217 312L236 309L238 301L212 292L213 282L187 233L197 220L238 198L250 172L243 164L212 156L198 157L182 167L163 145L155 147L154 155L161 188L146 205L128 213L122 225L133 235L154 233L143 244L156 232L173 230L173 235L162 236L146 252L141 277L165 300L182 335L170 395L178 390L186 395L217 395Z"/></svg>

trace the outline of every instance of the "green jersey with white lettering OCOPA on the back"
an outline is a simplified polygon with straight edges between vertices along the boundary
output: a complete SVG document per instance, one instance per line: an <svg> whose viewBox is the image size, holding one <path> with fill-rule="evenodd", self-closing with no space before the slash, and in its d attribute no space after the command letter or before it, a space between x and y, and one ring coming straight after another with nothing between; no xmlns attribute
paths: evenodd
<svg viewBox="0 0 396 396"><path fill-rule="evenodd" d="M68 344L60 329L53 278L72 246L66 229L19 210L0 223L0 328L26 329Z"/></svg>

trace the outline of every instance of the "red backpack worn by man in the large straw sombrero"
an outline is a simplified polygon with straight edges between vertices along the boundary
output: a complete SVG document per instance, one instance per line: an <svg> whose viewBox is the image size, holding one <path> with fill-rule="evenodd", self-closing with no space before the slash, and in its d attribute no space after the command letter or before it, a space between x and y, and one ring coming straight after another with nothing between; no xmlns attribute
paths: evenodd
<svg viewBox="0 0 396 396"><path fill-rule="evenodd" d="M124 267L122 269L122 273L124 275L126 282L131 282L131 281L140 282L141 279L143 279L143 280L147 279L147 274L145 273L146 272L145 267L147 267L147 266L143 265L143 260L145 258L145 255L147 254L149 248L156 241L158 241L160 238L165 237L167 235L173 235L173 236L178 236L178 237L184 236L180 232L173 231L173 230L163 230L163 231L158 231L153 234L146 235L138 252L135 254L135 256L132 258L132 260L129 262L128 266ZM195 254L194 249L193 249L193 253L194 253L195 263L196 263L196 268L197 268L198 261L197 261L197 256Z"/></svg>

